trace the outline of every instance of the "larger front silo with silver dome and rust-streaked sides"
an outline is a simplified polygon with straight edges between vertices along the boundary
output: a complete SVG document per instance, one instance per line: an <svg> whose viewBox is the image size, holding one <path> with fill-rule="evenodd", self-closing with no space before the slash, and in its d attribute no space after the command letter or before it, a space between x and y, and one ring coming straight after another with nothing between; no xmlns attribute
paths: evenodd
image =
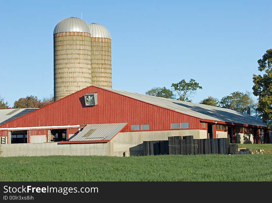
<svg viewBox="0 0 272 203"><path fill-rule="evenodd" d="M91 85L91 31L80 18L66 18L54 29L54 100Z"/></svg>

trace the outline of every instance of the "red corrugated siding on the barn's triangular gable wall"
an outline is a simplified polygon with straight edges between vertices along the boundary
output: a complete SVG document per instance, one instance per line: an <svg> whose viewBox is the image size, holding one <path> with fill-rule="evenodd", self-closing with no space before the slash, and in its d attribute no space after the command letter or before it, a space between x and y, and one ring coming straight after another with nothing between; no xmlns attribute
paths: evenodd
<svg viewBox="0 0 272 203"><path fill-rule="evenodd" d="M97 92L98 104L85 107L83 96L93 92ZM6 123L2 128L128 123L122 132L130 132L131 125L134 124L149 124L150 130L155 131L169 130L171 123L182 122L189 122L191 129L199 129L200 120L196 117L147 104L103 88L90 86Z"/></svg>

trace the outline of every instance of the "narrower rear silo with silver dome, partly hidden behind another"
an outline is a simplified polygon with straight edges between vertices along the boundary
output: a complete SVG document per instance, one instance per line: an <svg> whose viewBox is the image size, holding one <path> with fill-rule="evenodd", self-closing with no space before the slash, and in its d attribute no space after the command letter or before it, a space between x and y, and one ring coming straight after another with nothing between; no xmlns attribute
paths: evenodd
<svg viewBox="0 0 272 203"><path fill-rule="evenodd" d="M89 24L91 31L91 79L99 87L112 88L111 36L107 28Z"/></svg>

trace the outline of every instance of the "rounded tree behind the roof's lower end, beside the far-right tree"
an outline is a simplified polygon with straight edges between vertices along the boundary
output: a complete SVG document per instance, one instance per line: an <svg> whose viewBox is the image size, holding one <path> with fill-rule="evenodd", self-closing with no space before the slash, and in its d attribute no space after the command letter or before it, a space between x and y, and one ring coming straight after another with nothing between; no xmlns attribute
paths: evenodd
<svg viewBox="0 0 272 203"><path fill-rule="evenodd" d="M232 109L237 112L246 113L247 107L254 104L254 100L250 97L249 93L240 91L232 92L228 96L224 96L220 101L222 108Z"/></svg>

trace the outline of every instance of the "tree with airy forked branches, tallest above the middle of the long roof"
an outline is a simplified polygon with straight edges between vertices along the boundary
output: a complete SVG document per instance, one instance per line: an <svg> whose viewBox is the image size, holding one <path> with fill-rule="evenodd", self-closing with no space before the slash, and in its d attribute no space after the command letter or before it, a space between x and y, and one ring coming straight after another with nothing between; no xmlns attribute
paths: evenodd
<svg viewBox="0 0 272 203"><path fill-rule="evenodd" d="M199 83L197 83L194 79L190 79L188 83L185 81L185 79L183 79L178 83L172 83L171 87L176 92L178 100L187 102L192 102L189 97L195 94L197 89L202 89L202 87L199 86Z"/></svg>

